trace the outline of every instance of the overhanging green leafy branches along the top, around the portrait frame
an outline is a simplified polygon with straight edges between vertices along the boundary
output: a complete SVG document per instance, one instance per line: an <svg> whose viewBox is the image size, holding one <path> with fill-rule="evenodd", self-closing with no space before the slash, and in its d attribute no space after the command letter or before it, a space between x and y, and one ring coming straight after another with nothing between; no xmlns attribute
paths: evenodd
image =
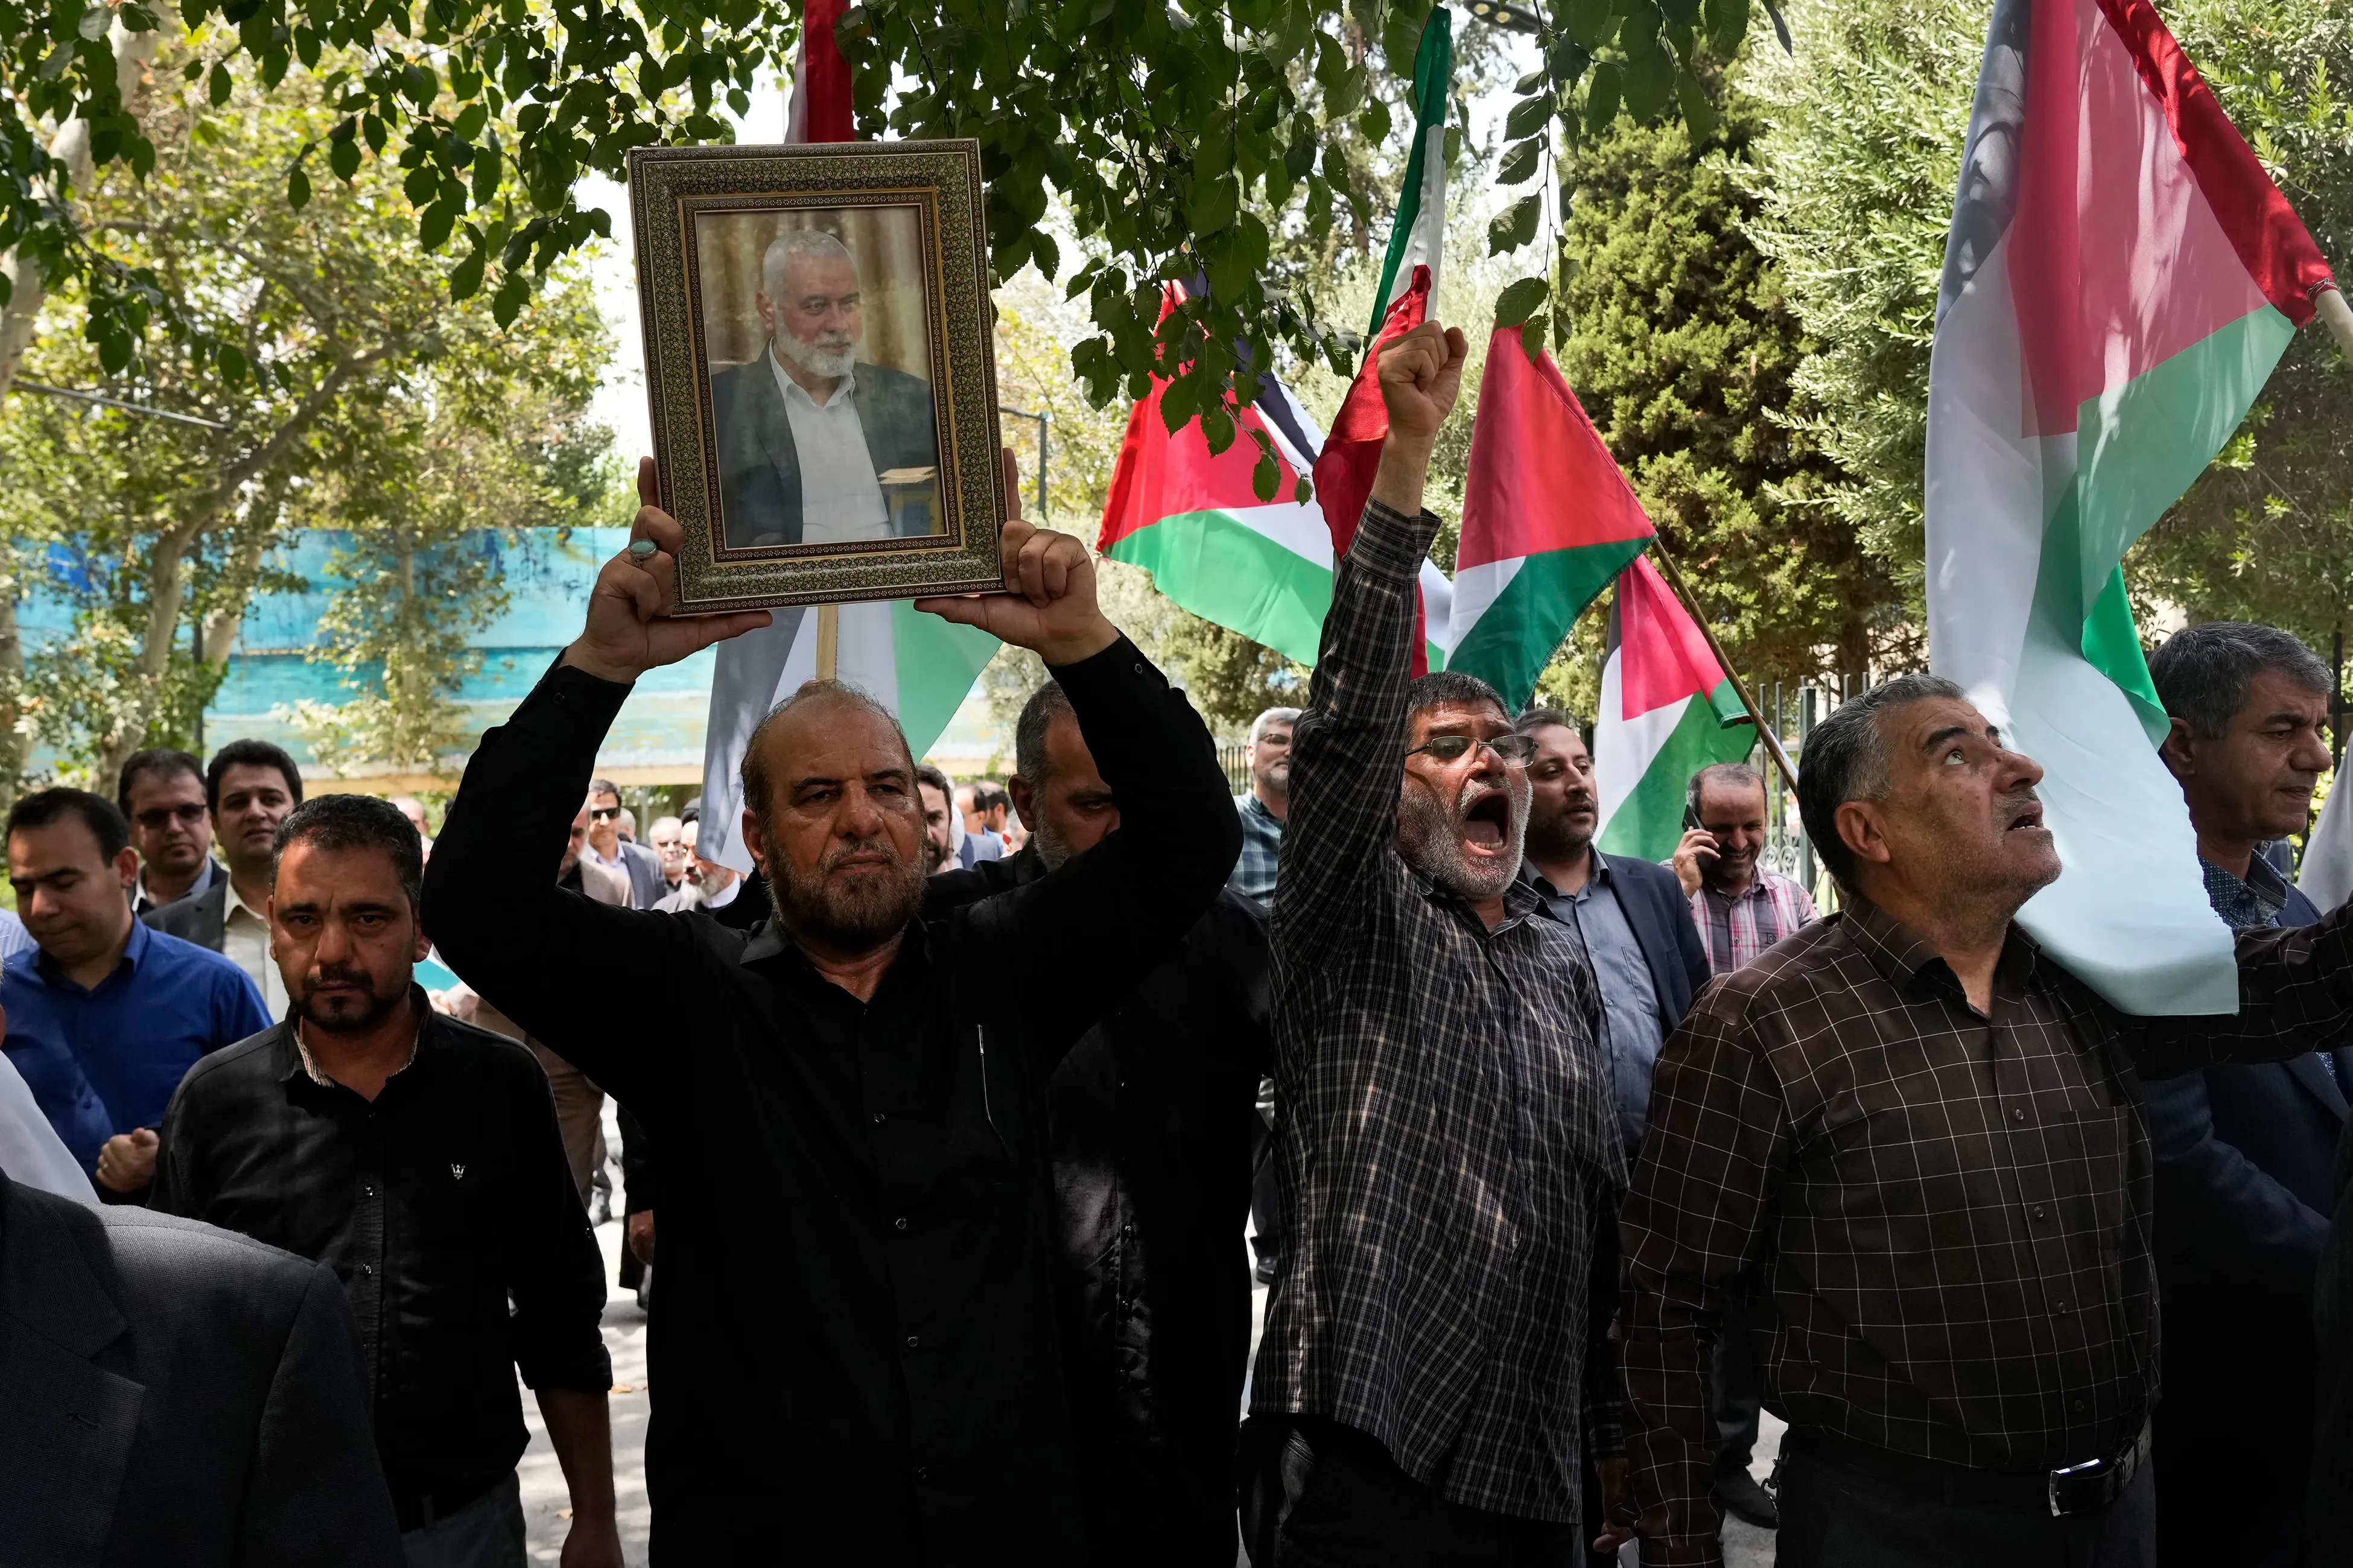
<svg viewBox="0 0 2353 1568"><path fill-rule="evenodd" d="M1134 398L1153 372L1174 374L1169 417L1205 414L1224 445L1228 400L1249 398L1231 377L1235 346L1257 363L1275 344L1334 363L1355 353L1355 337L1320 318L1313 278L1278 264L1275 238L1294 217L1313 231L1337 207L1386 207L1334 129L1388 139L1391 104L1367 92L1372 57L1409 75L1428 12L1431 0L871 0L835 35L864 134L981 141L998 278L1026 261L1059 271L1042 219L1066 202L1094 252L1073 280L1094 325L1073 351L1089 398ZM195 327L136 259L89 242L49 139L80 118L101 170L146 177L158 144L125 99L111 33L172 21L162 0L0 0L0 250L82 280L108 372L125 370L151 308ZM447 247L449 297L489 287L496 268L506 323L532 275L605 228L574 195L579 174L619 177L635 146L725 141L715 101L741 113L755 75L786 59L800 7L186 0L176 21L193 42L179 68L214 104L242 80L318 75L334 118L282 167L287 205L322 191L322 172L351 181L398 162L419 242ZM1739 45L1748 0L1558 0L1539 24L1541 66L1506 122L1508 181L1546 170L1555 134L1621 108L1706 125L1692 61L1704 42ZM1158 285L1195 273L1209 292L1158 323ZM1520 297L1541 304L1548 287L1527 280Z"/></svg>

